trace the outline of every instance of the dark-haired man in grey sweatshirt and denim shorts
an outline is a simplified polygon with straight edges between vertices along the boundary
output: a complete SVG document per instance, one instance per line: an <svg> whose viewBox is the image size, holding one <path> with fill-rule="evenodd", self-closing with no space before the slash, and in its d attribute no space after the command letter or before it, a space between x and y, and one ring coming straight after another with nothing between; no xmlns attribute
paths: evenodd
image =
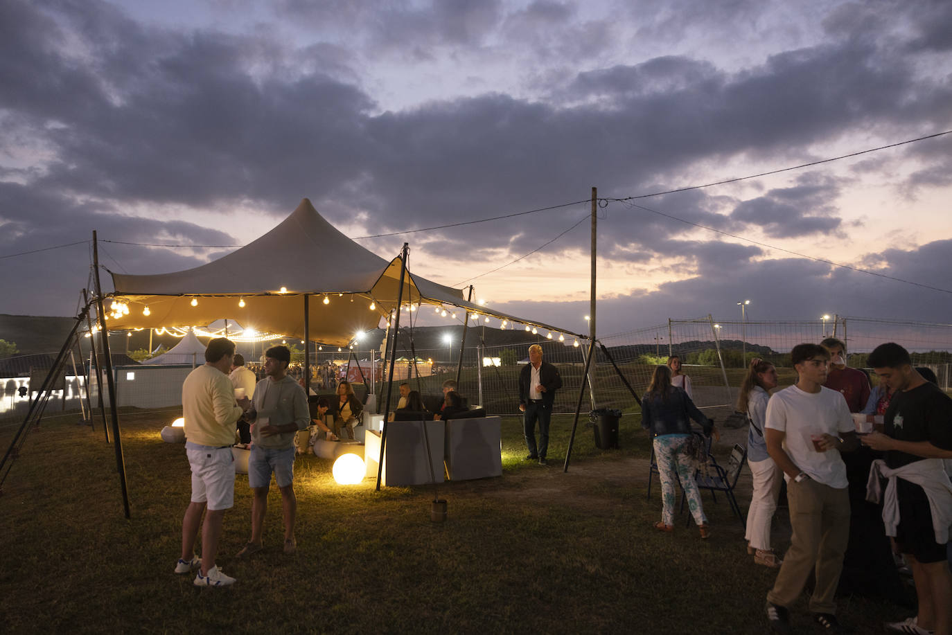
<svg viewBox="0 0 952 635"><path fill-rule="evenodd" d="M307 395L288 376L291 353L288 347L271 347L265 352L265 379L254 388L254 404L245 418L254 424L251 429L251 455L248 457L248 486L254 492L251 500L251 539L238 552L244 558L261 551L261 529L268 510L268 486L271 472L281 490L281 510L285 521L285 553L294 553L294 435L310 423Z"/></svg>

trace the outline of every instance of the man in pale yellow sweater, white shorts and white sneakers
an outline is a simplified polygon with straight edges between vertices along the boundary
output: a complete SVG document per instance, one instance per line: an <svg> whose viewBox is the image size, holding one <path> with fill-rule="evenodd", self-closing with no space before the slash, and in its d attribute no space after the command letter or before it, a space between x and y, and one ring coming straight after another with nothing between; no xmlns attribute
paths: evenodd
<svg viewBox="0 0 952 635"><path fill-rule="evenodd" d="M175 572L190 573L198 569L196 586L228 586L235 582L215 566L225 510L234 505L235 466L231 446L235 442L235 423L251 405L247 397L235 402L228 380L234 352L235 345L228 339L211 340L205 349L205 365L188 373L182 385L191 502L182 519L182 557ZM200 527L201 559L194 555Z"/></svg>

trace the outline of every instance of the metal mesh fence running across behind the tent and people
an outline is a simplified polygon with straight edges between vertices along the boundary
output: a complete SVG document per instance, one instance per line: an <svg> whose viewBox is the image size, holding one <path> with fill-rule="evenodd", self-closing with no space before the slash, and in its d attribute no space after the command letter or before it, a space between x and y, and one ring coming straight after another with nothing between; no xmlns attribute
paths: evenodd
<svg viewBox="0 0 952 635"><path fill-rule="evenodd" d="M928 367L937 376L939 386L949 390L952 383L952 325L914 323L872 318L834 316L829 320L745 322L717 321L710 317L693 320L669 320L667 324L644 327L600 338L608 356L596 348L592 371L592 389L585 390L582 408L615 407L637 410L634 398L625 387L619 372L641 395L651 373L664 364L669 354L682 358L684 373L692 381L694 401L702 408L730 406L744 375L744 360L759 356L773 362L780 371L781 383L795 381L789 362L789 351L802 342L820 342L825 336L843 340L851 367L866 367L868 352L883 342L897 342L912 353L913 362ZM556 412L574 412L582 388L587 342L559 342L541 339L544 359L559 367L563 387L557 393ZM466 342L459 392L470 404L486 407L494 414L518 413L518 376L528 355L528 345L483 346L479 341ZM416 349L412 354L398 351L394 379L406 381L411 389L424 395L439 395L447 379L457 377L459 348ZM319 351L312 356L311 386L318 393L333 389L331 377L347 376L358 385L361 394L375 393L383 409L386 388L382 378L386 368L376 350ZM49 368L55 352L0 360L0 378L4 387L0 398L0 427L22 420L30 400L30 371L38 384L37 372ZM610 359L609 359L610 357ZM349 373L347 362L349 360ZM618 371L611 362L618 367ZM89 364L89 359L85 360ZM180 403L182 380L194 364L202 360L188 359L176 366L120 366L115 368L116 390L120 405L133 407L169 407ZM68 363L62 384L50 395L47 412L79 410L83 364L76 360L80 378L77 380ZM260 367L248 364L260 375ZM387 365L388 367L388 365ZM291 374L300 377L300 365L292 365ZM875 383L875 378L873 378ZM95 382L92 382L95 387ZM35 396L35 393L34 393ZM396 386L391 409L396 401ZM96 393L92 391L93 404Z"/></svg>

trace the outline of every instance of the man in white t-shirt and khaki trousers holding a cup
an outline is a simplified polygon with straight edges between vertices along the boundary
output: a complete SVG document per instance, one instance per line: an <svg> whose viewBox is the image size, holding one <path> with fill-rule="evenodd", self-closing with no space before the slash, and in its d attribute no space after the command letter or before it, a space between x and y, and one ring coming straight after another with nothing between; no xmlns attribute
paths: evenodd
<svg viewBox="0 0 952 635"><path fill-rule="evenodd" d="M848 483L840 452L856 449L859 440L843 395L823 387L830 358L826 349L801 344L790 357L797 383L770 398L764 426L767 452L786 479L793 528L777 581L767 593L767 619L774 630L790 632L788 606L815 570L813 620L828 632L846 632L833 602L849 538Z"/></svg>

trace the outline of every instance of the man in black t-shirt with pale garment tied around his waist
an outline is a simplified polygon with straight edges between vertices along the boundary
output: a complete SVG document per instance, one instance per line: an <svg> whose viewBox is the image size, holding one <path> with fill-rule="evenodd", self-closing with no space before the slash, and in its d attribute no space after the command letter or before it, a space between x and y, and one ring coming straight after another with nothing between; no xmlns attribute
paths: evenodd
<svg viewBox="0 0 952 635"><path fill-rule="evenodd" d="M890 469L952 458L952 399L922 378L912 367L908 351L898 344L890 342L876 347L869 354L868 363L894 396L885 413L884 434L868 434L863 437L863 444L885 452L885 463ZM937 509L952 507L948 476L941 466L923 463L914 469L920 482L929 480L930 490L937 497L933 501ZM944 496L935 493L942 491L942 487L931 487L942 484ZM950 635L952 574L946 566L945 543L937 542L933 503L921 485L902 476L896 479L896 497L896 545L912 569L919 614L887 627L907 633L934 631Z"/></svg>

